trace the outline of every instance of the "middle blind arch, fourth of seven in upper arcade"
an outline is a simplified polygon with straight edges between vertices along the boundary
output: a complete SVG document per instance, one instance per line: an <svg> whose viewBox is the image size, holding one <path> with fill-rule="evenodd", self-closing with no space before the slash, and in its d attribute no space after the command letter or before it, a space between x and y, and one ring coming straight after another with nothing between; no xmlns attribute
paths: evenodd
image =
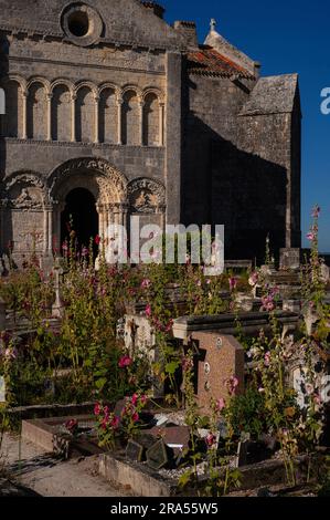
<svg viewBox="0 0 330 520"><path fill-rule="evenodd" d="M88 86L83 86L77 93L76 139L83 143L95 139L95 98Z"/></svg>

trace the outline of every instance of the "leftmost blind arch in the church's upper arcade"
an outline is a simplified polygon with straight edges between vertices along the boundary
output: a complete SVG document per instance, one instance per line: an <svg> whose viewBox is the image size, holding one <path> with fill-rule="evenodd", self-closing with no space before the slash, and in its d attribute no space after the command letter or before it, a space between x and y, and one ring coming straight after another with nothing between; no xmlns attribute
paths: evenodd
<svg viewBox="0 0 330 520"><path fill-rule="evenodd" d="M20 137L23 122L22 90L18 82L10 81L6 85L6 115L1 116L1 135Z"/></svg>

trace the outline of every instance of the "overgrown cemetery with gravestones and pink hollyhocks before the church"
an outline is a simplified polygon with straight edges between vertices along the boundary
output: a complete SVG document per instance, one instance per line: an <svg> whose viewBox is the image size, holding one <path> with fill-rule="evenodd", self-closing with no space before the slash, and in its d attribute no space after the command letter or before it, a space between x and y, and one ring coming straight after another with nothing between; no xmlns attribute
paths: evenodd
<svg viewBox="0 0 330 520"><path fill-rule="evenodd" d="M15 433L63 464L94 457L134 496L327 492L330 277L318 218L316 208L305 259L281 250L276 266L267 240L262 267L231 262L211 278L189 258L96 270L74 230L49 271L33 256L21 271L9 259L1 440Z"/></svg>

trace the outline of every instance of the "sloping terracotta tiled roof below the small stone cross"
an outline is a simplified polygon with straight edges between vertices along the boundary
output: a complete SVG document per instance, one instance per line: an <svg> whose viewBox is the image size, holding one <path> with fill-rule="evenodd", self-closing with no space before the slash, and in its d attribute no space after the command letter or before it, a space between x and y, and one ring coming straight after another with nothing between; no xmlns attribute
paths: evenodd
<svg viewBox="0 0 330 520"><path fill-rule="evenodd" d="M253 74L211 46L201 45L198 51L188 53L188 71L192 74L254 79Z"/></svg>

